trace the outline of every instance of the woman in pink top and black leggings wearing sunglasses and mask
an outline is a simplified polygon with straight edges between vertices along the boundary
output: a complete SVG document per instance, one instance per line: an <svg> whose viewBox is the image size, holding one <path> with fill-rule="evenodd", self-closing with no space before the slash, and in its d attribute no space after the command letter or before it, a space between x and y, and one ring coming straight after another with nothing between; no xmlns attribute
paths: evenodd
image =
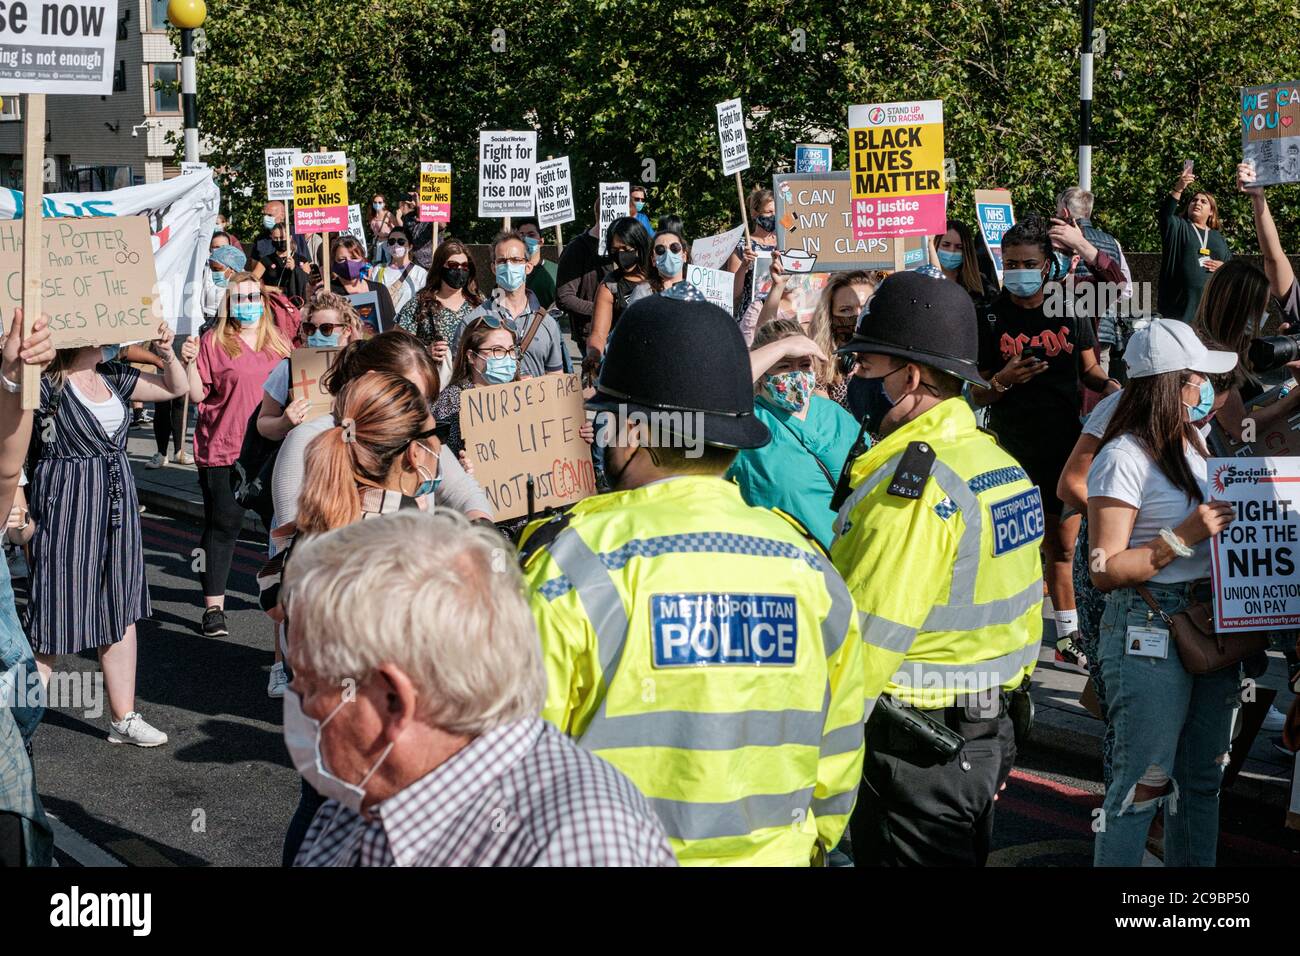
<svg viewBox="0 0 1300 956"><path fill-rule="evenodd" d="M289 307L291 321L277 326L277 316L289 316L268 306L269 298L252 273L234 276L225 299L229 315L218 315L217 324L203 333L198 362L187 371L190 401L199 406L194 458L203 490L200 546L205 559L200 581L205 637L230 633L225 615L226 581L244 515L234 498L230 472L239 458L248 420L261 402L266 376L289 356L289 343L298 330L298 311L292 307Z"/></svg>

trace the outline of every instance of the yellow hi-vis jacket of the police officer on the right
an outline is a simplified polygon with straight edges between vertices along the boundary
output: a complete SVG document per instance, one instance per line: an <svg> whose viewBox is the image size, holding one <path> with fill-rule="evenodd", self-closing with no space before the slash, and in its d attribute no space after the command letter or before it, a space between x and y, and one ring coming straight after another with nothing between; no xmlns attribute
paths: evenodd
<svg viewBox="0 0 1300 956"><path fill-rule="evenodd" d="M919 498L890 494L909 445L935 453ZM1041 640L1043 501L959 398L853 463L831 557L862 615L867 713L884 692L916 708L1015 688Z"/></svg>

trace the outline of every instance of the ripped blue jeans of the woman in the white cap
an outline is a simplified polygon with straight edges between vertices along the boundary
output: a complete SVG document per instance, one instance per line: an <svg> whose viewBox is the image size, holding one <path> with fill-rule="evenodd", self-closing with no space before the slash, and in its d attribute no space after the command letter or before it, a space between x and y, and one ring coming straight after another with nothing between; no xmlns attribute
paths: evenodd
<svg viewBox="0 0 1300 956"><path fill-rule="evenodd" d="M1193 597L1193 585L1148 584L1170 615ZM1197 588L1204 598L1206 585ZM1188 674L1174 637L1165 658L1127 653L1130 626L1165 628L1132 588L1106 596L1101 615L1101 671L1106 718L1115 730L1113 779L1095 822L1095 866L1140 866L1147 831L1165 806L1165 865L1213 866L1218 845L1219 784L1227 766L1232 717L1240 705L1240 667ZM1135 801L1138 783L1170 778L1166 793Z"/></svg>

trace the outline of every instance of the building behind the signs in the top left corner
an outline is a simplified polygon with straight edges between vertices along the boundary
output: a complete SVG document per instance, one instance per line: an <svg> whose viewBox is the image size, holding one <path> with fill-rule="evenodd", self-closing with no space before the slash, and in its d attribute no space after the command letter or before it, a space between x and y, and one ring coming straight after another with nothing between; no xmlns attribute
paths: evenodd
<svg viewBox="0 0 1300 956"><path fill-rule="evenodd" d="M118 0L112 96L46 98L46 191L88 193L178 176L181 53L168 0ZM0 186L22 189L22 98L0 109ZM52 163L51 163L52 160Z"/></svg>

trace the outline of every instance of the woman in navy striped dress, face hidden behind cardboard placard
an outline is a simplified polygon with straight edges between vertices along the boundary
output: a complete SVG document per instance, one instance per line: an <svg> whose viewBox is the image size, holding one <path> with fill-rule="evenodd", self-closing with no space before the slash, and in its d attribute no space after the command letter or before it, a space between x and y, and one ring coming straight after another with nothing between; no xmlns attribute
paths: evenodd
<svg viewBox="0 0 1300 956"><path fill-rule="evenodd" d="M133 401L168 402L185 392L172 339L164 323L153 342L161 375L114 362L117 346L61 350L42 376L35 416L27 637L47 685L58 654L99 650L114 744L166 743L135 710L135 622L150 617L150 592L126 436ZM198 345L190 338L182 359Z"/></svg>

